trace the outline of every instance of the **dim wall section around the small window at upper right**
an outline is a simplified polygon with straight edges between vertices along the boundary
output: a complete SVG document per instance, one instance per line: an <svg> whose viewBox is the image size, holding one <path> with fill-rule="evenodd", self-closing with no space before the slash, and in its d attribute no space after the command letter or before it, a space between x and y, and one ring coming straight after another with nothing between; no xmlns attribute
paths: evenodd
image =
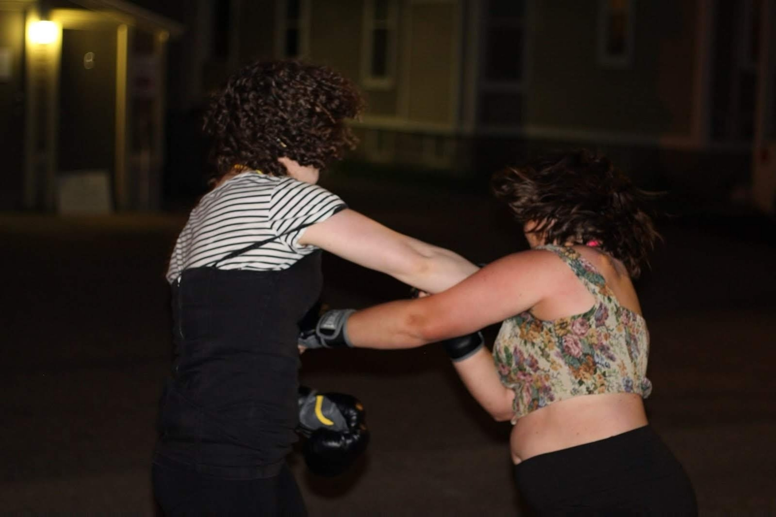
<svg viewBox="0 0 776 517"><path fill-rule="evenodd" d="M630 67L598 64L598 2L534 2L527 125L655 136L691 132L697 5L633 2Z"/></svg>

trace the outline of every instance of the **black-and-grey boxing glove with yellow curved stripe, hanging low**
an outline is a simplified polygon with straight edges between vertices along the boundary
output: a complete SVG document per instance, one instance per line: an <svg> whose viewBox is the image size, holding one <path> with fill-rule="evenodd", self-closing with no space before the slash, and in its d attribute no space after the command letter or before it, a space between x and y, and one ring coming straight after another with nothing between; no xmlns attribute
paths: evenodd
<svg viewBox="0 0 776 517"><path fill-rule="evenodd" d="M300 387L299 431L307 436L302 454L320 476L337 476L350 467L369 443L364 407L352 395L317 394Z"/></svg>

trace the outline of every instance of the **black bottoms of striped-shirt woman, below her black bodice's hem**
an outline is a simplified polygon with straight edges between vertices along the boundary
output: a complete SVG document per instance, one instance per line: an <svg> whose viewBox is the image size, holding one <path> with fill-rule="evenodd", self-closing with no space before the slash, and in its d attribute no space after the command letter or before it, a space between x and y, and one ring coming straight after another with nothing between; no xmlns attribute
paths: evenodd
<svg viewBox="0 0 776 517"><path fill-rule="evenodd" d="M228 480L154 463L151 477L154 497L165 517L307 515L299 486L287 465L274 477Z"/></svg>

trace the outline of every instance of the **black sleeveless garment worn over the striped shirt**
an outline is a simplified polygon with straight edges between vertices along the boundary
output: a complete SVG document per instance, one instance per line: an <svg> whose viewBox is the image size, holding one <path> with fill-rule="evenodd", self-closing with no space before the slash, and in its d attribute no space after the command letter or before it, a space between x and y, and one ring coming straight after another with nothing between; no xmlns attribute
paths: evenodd
<svg viewBox="0 0 776 517"><path fill-rule="evenodd" d="M283 271L183 271L155 463L232 480L279 473L296 442L298 322L322 282L320 250Z"/></svg>

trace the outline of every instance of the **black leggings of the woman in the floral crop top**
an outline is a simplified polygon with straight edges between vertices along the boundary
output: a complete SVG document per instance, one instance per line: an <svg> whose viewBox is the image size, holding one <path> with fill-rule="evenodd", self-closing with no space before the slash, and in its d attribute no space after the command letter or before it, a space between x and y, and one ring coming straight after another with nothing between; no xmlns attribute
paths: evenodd
<svg viewBox="0 0 776 517"><path fill-rule="evenodd" d="M514 467L536 515L698 515L684 468L650 426Z"/></svg>

